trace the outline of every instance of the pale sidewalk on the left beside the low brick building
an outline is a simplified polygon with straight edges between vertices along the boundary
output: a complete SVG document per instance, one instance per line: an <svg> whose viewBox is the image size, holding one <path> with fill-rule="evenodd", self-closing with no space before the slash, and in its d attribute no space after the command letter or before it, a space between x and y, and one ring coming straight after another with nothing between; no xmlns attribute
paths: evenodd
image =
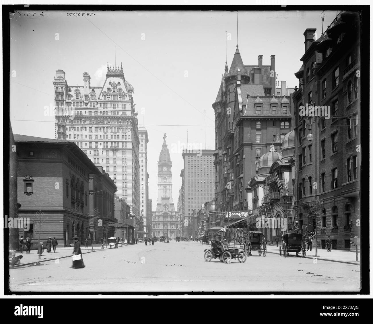
<svg viewBox="0 0 373 324"><path fill-rule="evenodd" d="M128 246L128 245L133 245L133 244L126 244L126 245L123 244L122 246L120 244L118 244L118 248ZM86 249L85 245L81 245L80 249L82 251L82 254L87 254L87 253L91 253L91 252L104 251L104 250L110 249L110 246L109 246L109 244L107 244L106 248L105 248L105 245L104 245L104 249L101 249L101 244L94 244L93 249L92 249L92 245L88 246L88 249ZM57 246L56 252L53 252L53 248L52 248L52 251L49 252L49 253L47 252L47 249L44 249L44 252L41 255L40 259L39 259L39 255L38 255L37 250L31 250L30 253L26 253L26 252L23 251L22 254L20 252L16 252L16 255L15 255L16 257L18 257L18 255L22 255L23 258L21 259L21 264L18 264L15 267L19 267L19 266L23 266L23 265L30 265L30 264L34 264L36 262L54 261L54 260L56 260L56 258L59 258L59 259L68 258L68 257L71 257L73 255L72 252L73 252L73 248L71 246L68 246L66 248L65 247L59 248Z"/></svg>

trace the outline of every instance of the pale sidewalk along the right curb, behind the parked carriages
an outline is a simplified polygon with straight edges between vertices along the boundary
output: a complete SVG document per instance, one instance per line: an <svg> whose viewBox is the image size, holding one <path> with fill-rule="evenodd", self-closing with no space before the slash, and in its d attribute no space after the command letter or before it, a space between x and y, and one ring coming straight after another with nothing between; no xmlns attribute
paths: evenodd
<svg viewBox="0 0 373 324"><path fill-rule="evenodd" d="M280 246L280 242L279 242ZM269 245L267 243L267 253L273 253L280 255L279 252L279 246L276 246L276 243L273 245ZM239 246L238 243L236 245L231 244L231 248L241 248L242 245ZM316 249L313 248L312 251L307 251L306 258L313 259L315 257ZM258 253L257 251L253 251L252 253ZM301 255L300 253L299 255ZM290 255L296 255L295 252L290 252ZM322 261L332 261L332 262L341 262L341 263L348 263L348 264L355 264L360 265L360 252L358 252L358 259L359 261L356 261L356 254L354 252L350 251L343 251L343 250L333 250L332 252L327 252L327 249L317 249L317 259Z"/></svg>

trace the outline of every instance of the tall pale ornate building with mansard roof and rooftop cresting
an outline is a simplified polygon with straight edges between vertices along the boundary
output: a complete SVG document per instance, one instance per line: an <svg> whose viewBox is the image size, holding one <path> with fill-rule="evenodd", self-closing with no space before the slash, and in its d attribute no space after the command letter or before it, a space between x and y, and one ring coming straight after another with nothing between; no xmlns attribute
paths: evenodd
<svg viewBox="0 0 373 324"><path fill-rule="evenodd" d="M107 66L103 85L93 86L83 73L82 85L70 85L63 70L53 80L56 138L73 141L118 188L117 196L131 207L135 227L141 220L140 153L134 88L123 67ZM144 155L144 154L143 154Z"/></svg>

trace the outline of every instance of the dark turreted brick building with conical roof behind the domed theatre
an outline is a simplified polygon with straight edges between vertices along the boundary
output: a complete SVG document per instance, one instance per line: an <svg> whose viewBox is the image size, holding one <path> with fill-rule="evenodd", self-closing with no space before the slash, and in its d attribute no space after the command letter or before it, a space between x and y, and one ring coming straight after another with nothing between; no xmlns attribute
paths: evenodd
<svg viewBox="0 0 373 324"><path fill-rule="evenodd" d="M244 65L238 50L230 69L225 65L215 111L216 212L252 209L245 186L258 174L259 158L294 125L291 97L282 83L276 90L275 56L263 65ZM248 205L249 203L249 205Z"/></svg>

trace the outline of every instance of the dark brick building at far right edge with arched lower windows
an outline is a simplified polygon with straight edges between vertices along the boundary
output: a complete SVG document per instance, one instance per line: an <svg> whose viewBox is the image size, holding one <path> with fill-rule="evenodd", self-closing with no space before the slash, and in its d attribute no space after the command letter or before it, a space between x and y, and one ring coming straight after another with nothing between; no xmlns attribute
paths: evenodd
<svg viewBox="0 0 373 324"><path fill-rule="evenodd" d="M342 11L316 40L315 31L304 32L303 64L295 73L295 211L303 231L317 227L319 246L330 235L333 249L352 249L351 236L360 234L360 19ZM306 104L314 114L300 113ZM327 108L319 113L320 106ZM308 204L315 199L324 208L311 221Z"/></svg>

